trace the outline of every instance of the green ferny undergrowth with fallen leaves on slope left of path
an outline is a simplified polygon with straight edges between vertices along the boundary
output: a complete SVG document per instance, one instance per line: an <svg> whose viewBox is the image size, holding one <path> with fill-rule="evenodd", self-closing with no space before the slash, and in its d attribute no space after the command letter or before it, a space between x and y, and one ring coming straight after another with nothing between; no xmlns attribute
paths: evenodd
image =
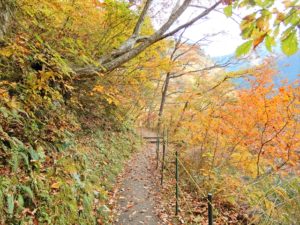
<svg viewBox="0 0 300 225"><path fill-rule="evenodd" d="M135 140L132 132L81 133L50 157L14 139L11 171L1 167L1 224L110 224L107 194Z"/></svg>

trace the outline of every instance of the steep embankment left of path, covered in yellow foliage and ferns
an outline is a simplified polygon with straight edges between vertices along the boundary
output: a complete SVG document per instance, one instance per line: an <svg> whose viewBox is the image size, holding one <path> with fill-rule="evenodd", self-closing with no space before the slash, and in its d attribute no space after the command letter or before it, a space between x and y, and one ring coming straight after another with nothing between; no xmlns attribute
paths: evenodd
<svg viewBox="0 0 300 225"><path fill-rule="evenodd" d="M132 89L73 70L130 27L108 32L104 11L133 16L114 1L0 0L0 224L111 224L108 191L137 148L123 95Z"/></svg>

